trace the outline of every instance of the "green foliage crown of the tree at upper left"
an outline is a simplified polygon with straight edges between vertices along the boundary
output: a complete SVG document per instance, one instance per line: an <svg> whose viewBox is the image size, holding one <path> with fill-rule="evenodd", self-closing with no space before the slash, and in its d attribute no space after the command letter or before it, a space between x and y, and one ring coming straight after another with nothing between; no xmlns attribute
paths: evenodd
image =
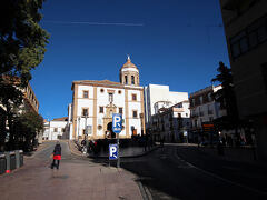
<svg viewBox="0 0 267 200"><path fill-rule="evenodd" d="M43 0L0 2L0 73L21 78L27 86L30 70L43 59L48 33L39 26Z"/></svg>

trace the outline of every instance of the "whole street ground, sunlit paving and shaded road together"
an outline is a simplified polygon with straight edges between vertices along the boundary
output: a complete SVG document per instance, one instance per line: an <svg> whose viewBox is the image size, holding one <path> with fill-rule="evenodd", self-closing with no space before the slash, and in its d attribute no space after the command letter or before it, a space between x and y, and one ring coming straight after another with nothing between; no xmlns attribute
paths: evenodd
<svg viewBox="0 0 267 200"><path fill-rule="evenodd" d="M51 170L55 142L44 142L24 166L0 177L1 200L31 199L266 199L267 173L248 163L208 157L195 147L165 146L116 161L71 154ZM112 167L113 166L113 167ZM249 168L250 167L250 168ZM254 171L253 171L254 170Z"/></svg>

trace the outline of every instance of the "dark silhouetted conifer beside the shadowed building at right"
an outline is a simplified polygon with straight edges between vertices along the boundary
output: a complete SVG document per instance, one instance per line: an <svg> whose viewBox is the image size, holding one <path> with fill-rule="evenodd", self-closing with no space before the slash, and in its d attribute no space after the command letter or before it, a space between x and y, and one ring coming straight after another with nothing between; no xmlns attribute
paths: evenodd
<svg viewBox="0 0 267 200"><path fill-rule="evenodd" d="M235 129L237 136L237 129L239 123L238 109L236 102L236 94L234 91L231 69L227 68L224 62L219 62L217 69L219 72L212 82L220 82L221 89L216 91L212 97L215 101L220 103L220 107L226 109L227 116L215 120L216 127L221 129ZM238 137L238 136L237 136Z"/></svg>

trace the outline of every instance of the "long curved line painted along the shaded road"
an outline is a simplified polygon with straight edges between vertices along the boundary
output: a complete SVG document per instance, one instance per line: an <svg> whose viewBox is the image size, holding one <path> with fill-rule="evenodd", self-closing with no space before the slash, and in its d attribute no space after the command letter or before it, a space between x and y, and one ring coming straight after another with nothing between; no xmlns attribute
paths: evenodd
<svg viewBox="0 0 267 200"><path fill-rule="evenodd" d="M177 153L176 153L176 157L179 158L179 159L181 159ZM181 159L181 160L184 160L184 159ZM234 186L237 186L237 187L240 187L240 188L245 188L245 189L250 190L250 191L253 191L253 192L255 192L255 193L259 193L259 194L265 194L265 196L267 196L267 192L264 192L264 191L260 191L260 190L257 190L257 189L254 189L254 188L249 188L249 187L247 187L247 186L244 186L244 184L240 184L240 183L237 183L237 182L233 182L233 181L230 181L230 180L228 180L228 179L225 179L225 178L222 178L222 177L220 177L220 176L217 176L217 174L211 173L211 172L208 172L208 171L206 171L206 170L204 170L204 169L201 169L201 168L198 168L198 167L196 167L195 164L189 163L189 162L186 161L186 160L184 160L184 161L187 162L187 163L188 163L189 166L191 166L192 168L195 168L195 169L197 169L197 170L201 171L202 173L206 173L206 174L208 174L208 176L210 176L210 177L214 177L214 178L216 178L216 179L222 180L222 181L225 181L225 182L228 182L228 183L230 183L230 184L234 184Z"/></svg>

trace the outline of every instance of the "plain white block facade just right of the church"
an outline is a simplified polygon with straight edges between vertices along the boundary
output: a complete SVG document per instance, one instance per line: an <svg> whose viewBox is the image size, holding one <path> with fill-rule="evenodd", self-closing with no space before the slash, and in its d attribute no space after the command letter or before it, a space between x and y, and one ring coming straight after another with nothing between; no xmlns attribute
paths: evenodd
<svg viewBox="0 0 267 200"><path fill-rule="evenodd" d="M160 108L169 108L181 101L188 101L187 92L169 91L169 86L149 84L145 87L146 124L151 123L151 116Z"/></svg>

